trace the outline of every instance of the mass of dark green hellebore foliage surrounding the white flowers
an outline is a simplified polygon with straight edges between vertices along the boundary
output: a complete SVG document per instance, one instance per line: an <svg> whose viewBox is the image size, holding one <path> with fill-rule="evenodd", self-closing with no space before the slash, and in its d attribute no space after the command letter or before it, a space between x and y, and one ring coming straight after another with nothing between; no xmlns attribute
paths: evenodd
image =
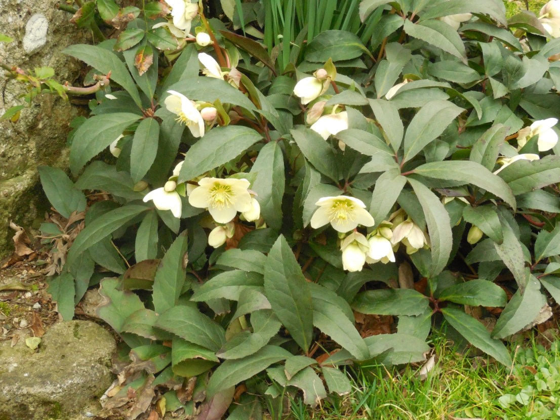
<svg viewBox="0 0 560 420"><path fill-rule="evenodd" d="M517 144L519 130L560 114L560 41L534 15L507 21L494 0L363 0L360 17L375 27L366 40L326 30L304 43L304 29L279 66L258 42L203 16L197 30L212 31L217 44L166 32L180 50L166 49L147 29L146 11L134 13L126 31L136 44L124 48L121 32L66 50L110 72L113 91L97 92L72 133L76 181L47 167L41 181L64 217L86 209L85 192L95 197L49 290L70 319L100 283L99 316L136 360L150 361L136 386L151 375L164 388L198 376L197 389L222 413L243 381L269 409L298 388L316 404L350 391L339 365L424 360L433 315L511 365L501 339L542 318L549 296L560 299L559 149L539 152L538 136ZM459 31L441 20L459 13L472 13ZM151 64L140 74L146 51ZM227 57L230 82L200 73L199 52ZM328 90L301 104L296 82L322 68ZM204 136L166 108L169 91L216 108ZM348 128L326 140L310 129L318 101L324 115L346 111ZM116 161L93 160L119 136ZM518 153L540 159L497 172L498 159ZM208 245L216 225L188 197L180 218L143 202L168 179L196 186L203 177L247 179L260 204L262 218L235 218L234 234L216 249ZM339 195L360 199L375 220L357 234L375 234L384 221L394 231L406 219L425 245L396 242L395 262L344 270L338 232L310 227L316 202ZM468 241L473 226L482 237ZM492 332L465 312L476 306L503 307ZM394 316L396 331L364 338L354 312ZM194 410L176 388L165 395L168 410Z"/></svg>

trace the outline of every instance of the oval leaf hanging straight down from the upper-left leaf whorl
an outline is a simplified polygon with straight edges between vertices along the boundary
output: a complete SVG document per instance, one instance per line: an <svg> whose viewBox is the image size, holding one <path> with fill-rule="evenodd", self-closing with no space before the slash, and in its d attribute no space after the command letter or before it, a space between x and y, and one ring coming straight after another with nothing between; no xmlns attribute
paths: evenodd
<svg viewBox="0 0 560 420"><path fill-rule="evenodd" d="M130 175L136 182L150 170L156 158L160 124L154 118L143 119L134 133L130 151Z"/></svg>

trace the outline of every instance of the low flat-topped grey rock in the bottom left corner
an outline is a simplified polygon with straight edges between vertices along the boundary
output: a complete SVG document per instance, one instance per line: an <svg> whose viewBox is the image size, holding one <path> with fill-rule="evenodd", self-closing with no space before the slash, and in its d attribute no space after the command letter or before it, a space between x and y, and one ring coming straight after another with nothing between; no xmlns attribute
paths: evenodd
<svg viewBox="0 0 560 420"><path fill-rule="evenodd" d="M0 343L0 419L87 418L113 382L113 335L91 321L52 326L37 352Z"/></svg>

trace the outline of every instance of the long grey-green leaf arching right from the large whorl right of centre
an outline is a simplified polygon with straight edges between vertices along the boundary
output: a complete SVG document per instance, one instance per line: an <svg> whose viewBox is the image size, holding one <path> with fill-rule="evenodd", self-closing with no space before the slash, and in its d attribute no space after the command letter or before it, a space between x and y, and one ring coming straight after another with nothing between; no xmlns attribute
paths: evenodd
<svg viewBox="0 0 560 420"><path fill-rule="evenodd" d="M507 169L507 168L506 168ZM502 171L503 172L503 171ZM500 174L502 173L500 172ZM492 174L484 166L469 161L431 162L418 166L414 173L428 178L459 181L474 184L503 199L515 208L515 197L500 176Z"/></svg>

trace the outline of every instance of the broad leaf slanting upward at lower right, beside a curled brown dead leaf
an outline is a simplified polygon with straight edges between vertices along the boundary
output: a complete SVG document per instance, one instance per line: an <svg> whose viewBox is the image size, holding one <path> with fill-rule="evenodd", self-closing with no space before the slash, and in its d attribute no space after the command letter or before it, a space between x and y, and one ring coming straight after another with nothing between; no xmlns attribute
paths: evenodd
<svg viewBox="0 0 560 420"><path fill-rule="evenodd" d="M500 314L492 337L505 338L519 332L533 322L546 303L546 298L540 292L539 281L533 274L528 274L525 291L523 294L520 289L515 292Z"/></svg>

